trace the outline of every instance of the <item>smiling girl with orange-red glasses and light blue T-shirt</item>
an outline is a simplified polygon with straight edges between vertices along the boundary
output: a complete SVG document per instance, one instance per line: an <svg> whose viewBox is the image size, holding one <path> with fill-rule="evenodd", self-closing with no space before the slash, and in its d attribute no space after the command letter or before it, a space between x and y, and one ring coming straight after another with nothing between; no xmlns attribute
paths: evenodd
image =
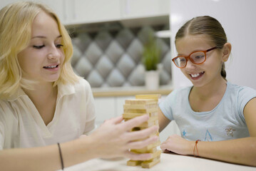
<svg viewBox="0 0 256 171"><path fill-rule="evenodd" d="M226 80L231 44L210 16L186 22L176 33L175 66L193 83L159 104L160 131L175 120L163 151L256 166L256 90Z"/></svg>

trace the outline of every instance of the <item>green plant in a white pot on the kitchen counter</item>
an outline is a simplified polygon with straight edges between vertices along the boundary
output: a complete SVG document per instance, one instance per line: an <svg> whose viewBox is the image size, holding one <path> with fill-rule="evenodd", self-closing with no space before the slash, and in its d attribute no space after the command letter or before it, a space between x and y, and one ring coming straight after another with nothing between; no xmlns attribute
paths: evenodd
<svg viewBox="0 0 256 171"><path fill-rule="evenodd" d="M145 66L145 87L150 90L159 87L158 63L160 61L160 49L156 38L150 34L148 42L144 44L143 65Z"/></svg>

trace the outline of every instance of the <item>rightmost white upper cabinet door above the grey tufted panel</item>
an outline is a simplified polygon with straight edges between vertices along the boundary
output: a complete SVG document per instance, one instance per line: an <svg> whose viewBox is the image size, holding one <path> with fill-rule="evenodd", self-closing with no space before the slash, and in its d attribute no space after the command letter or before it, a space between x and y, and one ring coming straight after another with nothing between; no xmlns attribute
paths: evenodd
<svg viewBox="0 0 256 171"><path fill-rule="evenodd" d="M123 19L169 15L170 0L121 0Z"/></svg>

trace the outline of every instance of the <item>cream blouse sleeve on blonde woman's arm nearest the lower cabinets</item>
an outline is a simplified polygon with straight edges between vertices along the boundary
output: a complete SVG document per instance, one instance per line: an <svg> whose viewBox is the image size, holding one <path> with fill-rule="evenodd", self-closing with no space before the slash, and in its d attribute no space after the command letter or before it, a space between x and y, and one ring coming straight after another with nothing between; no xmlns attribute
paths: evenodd
<svg viewBox="0 0 256 171"><path fill-rule="evenodd" d="M86 134L95 128L96 110L93 99L93 92L90 84L85 81L86 89L86 127L83 133Z"/></svg>

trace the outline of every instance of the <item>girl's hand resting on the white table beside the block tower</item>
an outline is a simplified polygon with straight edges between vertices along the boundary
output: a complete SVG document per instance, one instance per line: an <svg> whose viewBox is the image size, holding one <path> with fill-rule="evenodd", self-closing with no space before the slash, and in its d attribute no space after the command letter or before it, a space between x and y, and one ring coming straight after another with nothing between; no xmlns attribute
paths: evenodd
<svg viewBox="0 0 256 171"><path fill-rule="evenodd" d="M179 135L170 135L170 137L160 145L160 148L163 150L163 152L168 150L180 155L193 155L194 145L194 141L185 140Z"/></svg>

